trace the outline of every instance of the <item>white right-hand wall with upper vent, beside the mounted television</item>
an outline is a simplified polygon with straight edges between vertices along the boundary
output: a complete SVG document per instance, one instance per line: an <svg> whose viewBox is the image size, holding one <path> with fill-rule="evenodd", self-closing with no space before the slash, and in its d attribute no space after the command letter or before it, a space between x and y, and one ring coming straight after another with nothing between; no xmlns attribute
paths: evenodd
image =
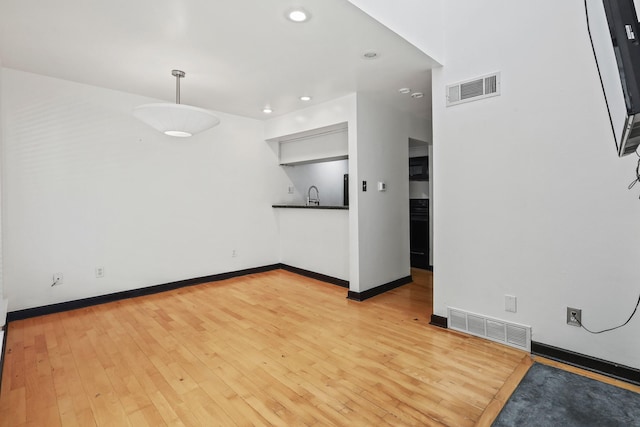
<svg viewBox="0 0 640 427"><path fill-rule="evenodd" d="M533 327L533 340L640 368L637 158L616 157L582 2L445 2L433 73L434 312ZM543 30L541 30L543 29ZM445 85L500 71L502 95L446 108ZM518 312L504 311L504 295Z"/></svg>

